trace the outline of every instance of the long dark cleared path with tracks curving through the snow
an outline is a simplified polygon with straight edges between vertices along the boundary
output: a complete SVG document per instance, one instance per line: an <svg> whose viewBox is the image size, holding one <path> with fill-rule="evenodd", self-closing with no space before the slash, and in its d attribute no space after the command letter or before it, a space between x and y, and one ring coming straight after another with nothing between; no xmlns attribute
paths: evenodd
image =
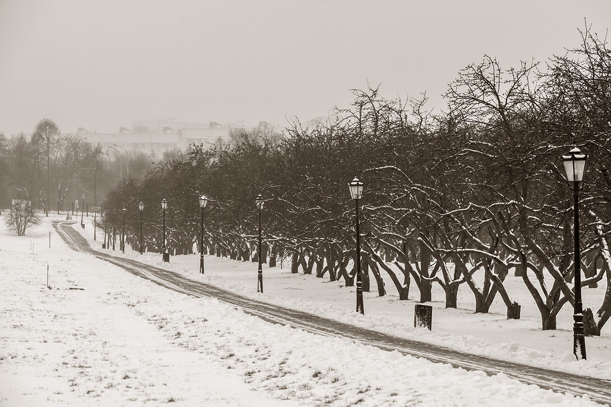
<svg viewBox="0 0 611 407"><path fill-rule="evenodd" d="M62 236L62 239L74 250L92 253L100 259L125 268L134 275L150 279L168 289L194 297L214 297L226 303L235 304L240 306L247 314L256 315L268 322L290 325L293 328L301 328L302 330L324 336L348 338L361 344L381 348L382 350L399 351L403 355L423 357L433 362L449 363L454 367L483 371L488 373L488 375L502 373L524 383L536 384L536 386L544 389L569 392L576 395L589 394L597 402L611 403L611 383L608 380L500 361L485 356L470 355L437 345L403 339L335 320L329 320L318 315L242 297L209 284L187 279L169 270L145 265L132 259L115 258L106 253L92 250L86 239L69 225L70 223L67 222L54 223L54 227L60 236Z"/></svg>

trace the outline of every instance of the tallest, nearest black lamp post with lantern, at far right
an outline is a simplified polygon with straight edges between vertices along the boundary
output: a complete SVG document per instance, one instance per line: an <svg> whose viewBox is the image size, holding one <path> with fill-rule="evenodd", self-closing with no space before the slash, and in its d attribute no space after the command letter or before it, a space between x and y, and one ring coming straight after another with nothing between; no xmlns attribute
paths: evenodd
<svg viewBox="0 0 611 407"><path fill-rule="evenodd" d="M562 156L565 165L566 181L573 190L573 222L575 245L575 301L573 303L573 353L577 360L586 359L584 336L584 312L581 301L581 262L579 253L579 190L584 186L585 164L588 155L583 154L577 147L571 149L566 156Z"/></svg>

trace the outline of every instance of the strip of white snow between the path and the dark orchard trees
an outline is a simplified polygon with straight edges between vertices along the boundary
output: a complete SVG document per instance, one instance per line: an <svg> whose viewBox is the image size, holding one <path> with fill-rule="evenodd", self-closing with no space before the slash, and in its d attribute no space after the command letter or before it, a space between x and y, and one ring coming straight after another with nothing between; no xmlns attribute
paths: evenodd
<svg viewBox="0 0 611 407"><path fill-rule="evenodd" d="M89 239L92 247L101 249L101 239L93 241L93 228L76 228ZM117 236L117 242L119 237ZM566 303L558 314L557 330L541 330L538 309L522 279L513 276L505 279L505 287L512 298L522 306L521 319L508 320L507 309L500 295L494 300L489 314L474 314L473 294L466 284L458 294L458 309L446 309L441 287L433 284L433 331L414 328L414 304L419 292L412 283L409 301L400 301L396 290L386 276L388 295L378 297L371 279L371 292L364 293L365 316L356 314L355 287L344 287L343 279L331 282L315 275L291 274L288 264L268 268L263 265L265 294L257 293L257 264L233 261L216 256L205 256L205 275L199 273L199 254L172 256L164 263L161 254L145 253L142 256L126 247L125 254L117 250L112 254L137 258L138 261L167 268L188 278L214 284L246 297L257 298L288 308L323 315L409 339L423 340L456 350L492 356L513 362L547 367L554 370L588 374L599 378L611 378L611 333L609 326L599 337L586 337L587 361L576 361L573 355L573 307ZM382 277L385 275L382 273ZM551 286L552 281L548 286ZM584 308L595 311L602 302L606 281L596 289L584 287Z"/></svg>

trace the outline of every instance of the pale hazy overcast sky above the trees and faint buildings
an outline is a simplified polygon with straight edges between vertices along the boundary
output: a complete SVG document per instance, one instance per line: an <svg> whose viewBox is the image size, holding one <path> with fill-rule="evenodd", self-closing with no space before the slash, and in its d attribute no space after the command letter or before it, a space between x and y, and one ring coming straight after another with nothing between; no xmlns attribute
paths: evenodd
<svg viewBox="0 0 611 407"><path fill-rule="evenodd" d="M351 88L442 107L483 54L502 67L599 35L611 1L0 0L0 131L118 131L132 120L327 115Z"/></svg>

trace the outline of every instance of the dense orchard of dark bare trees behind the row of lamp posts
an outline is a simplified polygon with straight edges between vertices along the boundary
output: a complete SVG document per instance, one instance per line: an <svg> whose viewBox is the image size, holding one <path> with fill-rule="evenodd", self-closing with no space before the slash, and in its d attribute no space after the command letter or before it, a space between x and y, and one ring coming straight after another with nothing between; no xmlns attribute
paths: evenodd
<svg viewBox="0 0 611 407"><path fill-rule="evenodd" d="M144 244L161 248L161 200L171 253L200 245L198 196L205 208L204 250L257 259L255 196L265 198L270 266L290 259L291 271L354 284L354 203L348 182L365 182L362 199L364 287L379 295L382 275L408 299L431 287L455 308L460 286L474 311L488 312L499 295L508 317L519 305L503 286L510 270L522 279L541 314L556 328L573 303L573 200L560 156L579 146L590 159L582 191L584 287L606 279L598 309L588 309L587 333L599 334L611 315L611 53L589 31L581 46L546 64L503 69L485 56L460 71L445 94L446 112L421 100L385 99L378 88L354 90L337 120L316 128L295 121L284 134L242 132L230 145L157 165L144 179L121 182L106 196L101 225L121 222L137 249L144 209Z"/></svg>

